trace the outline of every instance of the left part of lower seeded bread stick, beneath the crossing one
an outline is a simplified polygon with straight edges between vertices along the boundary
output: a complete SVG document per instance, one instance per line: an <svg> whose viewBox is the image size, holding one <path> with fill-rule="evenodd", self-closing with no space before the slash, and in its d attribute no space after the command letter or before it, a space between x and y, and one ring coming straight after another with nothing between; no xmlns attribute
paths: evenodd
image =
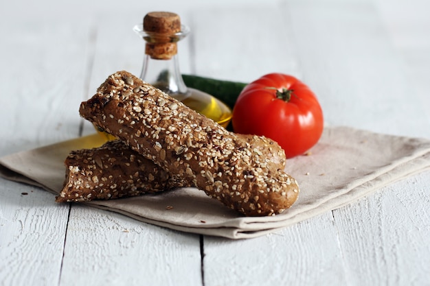
<svg viewBox="0 0 430 286"><path fill-rule="evenodd" d="M66 179L56 202L87 202L186 187L122 141L72 151L65 160Z"/></svg>

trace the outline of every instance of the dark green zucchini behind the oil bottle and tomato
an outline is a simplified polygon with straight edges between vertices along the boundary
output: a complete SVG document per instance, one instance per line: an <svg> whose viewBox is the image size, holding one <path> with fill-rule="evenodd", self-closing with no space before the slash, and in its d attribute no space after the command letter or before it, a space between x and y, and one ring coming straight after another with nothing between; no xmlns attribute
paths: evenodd
<svg viewBox="0 0 430 286"><path fill-rule="evenodd" d="M231 110L233 110L240 92L247 85L243 82L216 80L214 78L204 78L199 75L182 75L182 78L186 86L213 95L220 99L221 102L227 104Z"/></svg>

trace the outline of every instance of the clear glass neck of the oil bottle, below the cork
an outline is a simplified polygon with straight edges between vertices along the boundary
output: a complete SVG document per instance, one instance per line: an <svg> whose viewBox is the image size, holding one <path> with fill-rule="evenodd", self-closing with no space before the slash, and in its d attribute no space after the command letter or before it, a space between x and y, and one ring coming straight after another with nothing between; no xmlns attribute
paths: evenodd
<svg viewBox="0 0 430 286"><path fill-rule="evenodd" d="M188 96L177 54L168 59L157 59L146 53L140 78L176 99L183 100Z"/></svg>

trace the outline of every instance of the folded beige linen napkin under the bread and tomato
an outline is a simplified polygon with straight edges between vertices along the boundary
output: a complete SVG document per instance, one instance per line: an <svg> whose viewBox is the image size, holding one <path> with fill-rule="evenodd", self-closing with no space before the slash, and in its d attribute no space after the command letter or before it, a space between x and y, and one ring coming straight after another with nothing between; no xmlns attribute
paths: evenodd
<svg viewBox="0 0 430 286"><path fill-rule="evenodd" d="M58 193L69 151L94 144L102 144L97 134L5 156L0 158L0 175ZM240 239L339 208L426 169L430 169L430 140L326 128L311 154L287 161L286 171L301 191L297 202L281 215L242 217L194 188L86 204L174 230Z"/></svg>

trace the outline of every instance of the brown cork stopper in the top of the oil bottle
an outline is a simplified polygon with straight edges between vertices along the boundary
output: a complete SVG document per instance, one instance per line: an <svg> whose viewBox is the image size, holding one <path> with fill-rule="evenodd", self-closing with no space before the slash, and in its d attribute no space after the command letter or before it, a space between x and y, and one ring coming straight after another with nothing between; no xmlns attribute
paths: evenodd
<svg viewBox="0 0 430 286"><path fill-rule="evenodd" d="M171 12L150 12L144 16L144 32L150 34L145 53L157 60L169 60L178 52L174 34L181 32L181 19Z"/></svg>

